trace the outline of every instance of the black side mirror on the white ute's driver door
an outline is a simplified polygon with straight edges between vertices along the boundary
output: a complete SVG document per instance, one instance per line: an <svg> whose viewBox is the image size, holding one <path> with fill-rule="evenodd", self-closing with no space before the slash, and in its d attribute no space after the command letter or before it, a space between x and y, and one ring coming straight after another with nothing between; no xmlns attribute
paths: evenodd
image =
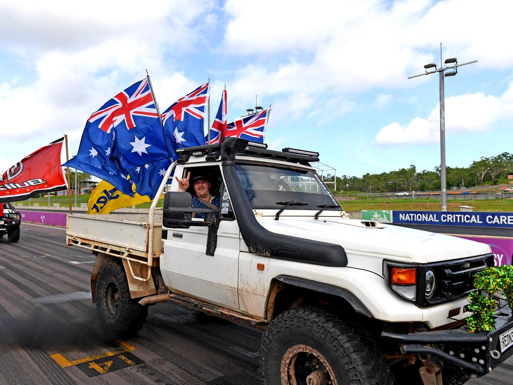
<svg viewBox="0 0 513 385"><path fill-rule="evenodd" d="M210 226L215 223L214 211L211 208L192 206L192 195L189 192L166 192L164 195L164 227L188 228L190 226ZM192 213L205 214L204 220L193 220Z"/></svg>

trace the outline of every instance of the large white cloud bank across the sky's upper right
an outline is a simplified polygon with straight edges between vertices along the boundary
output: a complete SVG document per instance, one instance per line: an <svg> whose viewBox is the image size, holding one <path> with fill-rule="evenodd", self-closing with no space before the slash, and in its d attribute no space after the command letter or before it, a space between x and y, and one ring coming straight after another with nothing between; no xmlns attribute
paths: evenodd
<svg viewBox="0 0 513 385"><path fill-rule="evenodd" d="M306 0L293 5L263 0L257 8L228 0L224 9L230 17L225 50L253 61L236 72L230 88L241 98L248 89L259 95L303 93L318 100L324 93L416 87L426 79L411 82L407 77L439 61L441 41L444 57L458 56L460 63L479 60L470 71L513 66L513 51L498 38L513 34L513 3L507 0L489 7L477 0L333 0L319 6Z"/></svg>

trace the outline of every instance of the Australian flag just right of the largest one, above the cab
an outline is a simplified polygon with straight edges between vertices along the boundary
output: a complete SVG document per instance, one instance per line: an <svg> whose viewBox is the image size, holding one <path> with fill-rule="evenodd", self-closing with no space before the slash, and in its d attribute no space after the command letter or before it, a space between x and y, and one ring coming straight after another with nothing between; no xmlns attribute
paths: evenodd
<svg viewBox="0 0 513 385"><path fill-rule="evenodd" d="M162 113L164 134L168 147L205 145L205 113L209 98L209 84L196 88L173 103Z"/></svg>

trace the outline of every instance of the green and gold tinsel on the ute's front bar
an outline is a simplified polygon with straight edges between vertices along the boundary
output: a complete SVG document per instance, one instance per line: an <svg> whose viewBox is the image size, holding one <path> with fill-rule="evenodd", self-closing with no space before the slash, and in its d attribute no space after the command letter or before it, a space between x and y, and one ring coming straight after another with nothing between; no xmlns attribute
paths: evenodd
<svg viewBox="0 0 513 385"><path fill-rule="evenodd" d="M468 296L469 310L473 313L467 318L469 331L470 333L491 332L496 324L494 294L502 290L509 308L513 309L513 266L486 267L476 274L474 287L478 291Z"/></svg>

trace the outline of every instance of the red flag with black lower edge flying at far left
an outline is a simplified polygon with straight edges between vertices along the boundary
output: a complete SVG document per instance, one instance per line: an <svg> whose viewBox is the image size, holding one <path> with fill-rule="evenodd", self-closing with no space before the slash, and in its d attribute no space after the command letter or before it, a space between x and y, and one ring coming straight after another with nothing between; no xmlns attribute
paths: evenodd
<svg viewBox="0 0 513 385"><path fill-rule="evenodd" d="M0 176L0 202L23 201L68 188L61 168L64 138L32 152Z"/></svg>

